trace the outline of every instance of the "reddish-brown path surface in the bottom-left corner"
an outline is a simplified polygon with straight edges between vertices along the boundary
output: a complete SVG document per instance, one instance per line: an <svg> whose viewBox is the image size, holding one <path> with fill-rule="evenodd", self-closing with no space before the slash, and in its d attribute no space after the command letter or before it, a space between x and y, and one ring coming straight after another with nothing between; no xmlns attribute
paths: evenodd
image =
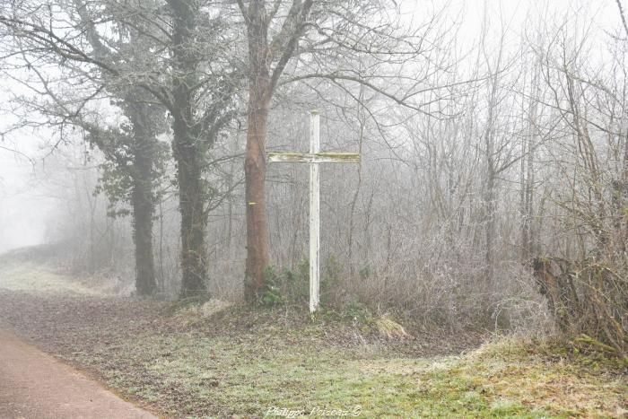
<svg viewBox="0 0 628 419"><path fill-rule="evenodd" d="M0 328L0 418L126 419L156 416Z"/></svg>

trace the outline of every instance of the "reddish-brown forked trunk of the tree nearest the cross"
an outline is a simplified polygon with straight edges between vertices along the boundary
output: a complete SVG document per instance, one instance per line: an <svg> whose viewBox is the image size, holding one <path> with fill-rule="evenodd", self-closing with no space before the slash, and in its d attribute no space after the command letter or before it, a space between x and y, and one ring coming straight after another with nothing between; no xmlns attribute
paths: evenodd
<svg viewBox="0 0 628 419"><path fill-rule="evenodd" d="M280 4L275 2L275 11L270 13L266 11L264 0L251 0L248 9L243 1L239 0L238 4L247 24L249 42L249 130L244 167L247 205L244 296L247 301L253 302L264 291L264 270L270 260L264 195L268 108L276 83L301 39L313 0L292 2L282 28L272 42L268 39L268 27Z"/></svg>

